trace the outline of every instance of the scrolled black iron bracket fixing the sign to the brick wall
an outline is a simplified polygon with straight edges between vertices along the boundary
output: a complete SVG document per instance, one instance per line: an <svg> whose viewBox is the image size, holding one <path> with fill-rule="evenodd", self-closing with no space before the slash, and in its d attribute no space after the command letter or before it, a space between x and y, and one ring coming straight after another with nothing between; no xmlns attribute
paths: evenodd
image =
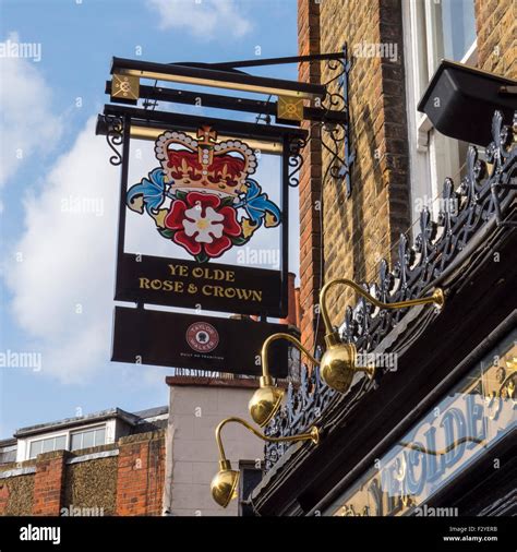
<svg viewBox="0 0 517 552"><path fill-rule="evenodd" d="M338 74L327 81L324 86L327 95L324 107L327 111L337 110L346 115L344 122L323 120L322 146L330 154L329 173L338 182L345 181L347 197L352 193L351 167L356 159L356 153L350 146L350 107L348 103L349 73L352 62L348 59L348 48L342 47L342 59L328 60L327 69L337 71ZM337 85L337 92L330 92L329 87Z"/></svg>

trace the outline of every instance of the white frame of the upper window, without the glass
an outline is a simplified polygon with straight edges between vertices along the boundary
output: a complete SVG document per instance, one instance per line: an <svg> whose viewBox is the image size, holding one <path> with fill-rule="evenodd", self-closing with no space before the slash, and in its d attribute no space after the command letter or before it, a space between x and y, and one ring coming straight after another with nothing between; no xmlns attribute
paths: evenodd
<svg viewBox="0 0 517 552"><path fill-rule="evenodd" d="M425 197L431 202L440 196L446 177L456 177L455 185L459 185L457 172L462 163L458 148L453 147L453 142L456 141L436 132L429 117L417 110L417 105L443 58L436 40L438 23L435 21L434 1L411 0L401 3L412 224L419 218L416 199ZM477 60L478 46L474 40L461 63L474 65ZM436 217L440 205L434 202L431 212ZM413 230L416 228L418 231L418 225L412 227Z"/></svg>

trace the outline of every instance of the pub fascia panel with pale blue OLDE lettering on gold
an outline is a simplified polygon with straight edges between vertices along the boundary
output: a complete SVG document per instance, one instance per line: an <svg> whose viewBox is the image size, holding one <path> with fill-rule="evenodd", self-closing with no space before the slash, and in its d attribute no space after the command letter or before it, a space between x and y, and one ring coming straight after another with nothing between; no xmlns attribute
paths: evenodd
<svg viewBox="0 0 517 552"><path fill-rule="evenodd" d="M514 331L476 362L324 515L422 515L431 496L509 440L517 428L516 338Z"/></svg>

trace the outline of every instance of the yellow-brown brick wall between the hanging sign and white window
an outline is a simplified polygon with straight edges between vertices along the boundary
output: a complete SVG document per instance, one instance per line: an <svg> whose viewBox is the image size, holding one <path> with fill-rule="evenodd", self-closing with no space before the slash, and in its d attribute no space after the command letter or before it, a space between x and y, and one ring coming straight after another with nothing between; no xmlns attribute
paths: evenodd
<svg viewBox="0 0 517 552"><path fill-rule="evenodd" d="M401 7L399 0L299 0L300 53L340 51L349 56L362 43L396 45L398 58L356 56L349 85L352 193L345 183L322 175L330 156L314 140L305 156L300 182L300 279L302 340L313 343L314 307L323 283L347 277L359 281L376 276L384 256L396 259L394 244L409 227L409 154L405 109ZM330 81L326 63L302 67L300 79ZM332 92L337 92L333 89ZM323 196L323 211L314 208ZM323 253L320 216L323 216ZM323 254L323 275L321 261ZM339 324L353 293L329 293L332 320Z"/></svg>

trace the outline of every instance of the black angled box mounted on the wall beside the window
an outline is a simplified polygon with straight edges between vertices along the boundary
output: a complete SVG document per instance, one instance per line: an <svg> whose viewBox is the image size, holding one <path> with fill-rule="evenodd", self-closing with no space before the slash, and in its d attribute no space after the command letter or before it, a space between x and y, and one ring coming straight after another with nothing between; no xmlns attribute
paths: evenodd
<svg viewBox="0 0 517 552"><path fill-rule="evenodd" d="M486 121L493 112L512 120L515 109L517 81L448 60L442 60L418 105L442 134L482 146L492 140Z"/></svg>

